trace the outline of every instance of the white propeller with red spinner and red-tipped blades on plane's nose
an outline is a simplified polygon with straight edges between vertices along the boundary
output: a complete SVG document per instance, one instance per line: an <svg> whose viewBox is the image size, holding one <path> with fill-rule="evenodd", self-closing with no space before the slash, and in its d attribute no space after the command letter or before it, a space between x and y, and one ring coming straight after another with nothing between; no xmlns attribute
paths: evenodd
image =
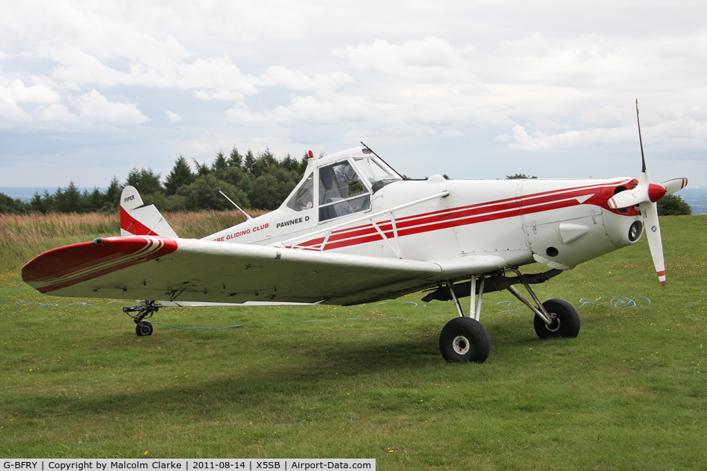
<svg viewBox="0 0 707 471"><path fill-rule="evenodd" d="M636 121L638 121L638 141L641 143L641 161L643 168L641 178L638 179L636 188L621 191L609 199L609 207L614 209L628 208L638 205L641 208L643 227L648 237L648 248L653 258L653 266L658 273L660 284L665 286L665 260L662 252L662 239L660 239L660 224L658 223L658 200L665 195L670 195L687 186L686 178L677 178L664 181L661 184L653 183L648 170L645 168L645 155L643 154L643 139L641 138L641 119L638 117L638 100L636 100Z"/></svg>

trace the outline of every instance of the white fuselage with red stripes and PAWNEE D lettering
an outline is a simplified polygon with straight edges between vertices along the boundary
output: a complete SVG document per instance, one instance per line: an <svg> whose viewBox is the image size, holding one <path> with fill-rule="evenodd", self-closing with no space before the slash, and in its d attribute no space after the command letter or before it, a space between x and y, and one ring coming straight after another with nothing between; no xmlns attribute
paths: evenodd
<svg viewBox="0 0 707 471"><path fill-rule="evenodd" d="M629 237L631 225L641 224L638 210L621 212L607 205L635 179L447 180L435 175L387 181L374 191L375 185L358 177L367 184L356 193L365 196L356 200L365 199L363 207L351 205L354 210L347 207L349 213L335 215L327 211L332 203L317 198L325 193L324 177L317 172L347 160L363 160L361 150L310 159L300 186L310 176L313 195L301 207L288 203L295 189L278 210L204 239L419 261L495 256L508 267L540 261L554 268L572 268L638 239ZM356 169L356 163L351 167ZM421 202L411 204L416 201Z"/></svg>

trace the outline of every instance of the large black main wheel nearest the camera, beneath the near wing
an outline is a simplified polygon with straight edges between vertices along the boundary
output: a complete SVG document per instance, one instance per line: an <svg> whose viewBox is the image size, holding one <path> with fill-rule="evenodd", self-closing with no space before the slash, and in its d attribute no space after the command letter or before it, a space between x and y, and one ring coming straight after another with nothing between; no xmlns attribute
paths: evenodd
<svg viewBox="0 0 707 471"><path fill-rule="evenodd" d="M491 338L476 319L455 317L440 333L440 352L450 363L483 363L491 352Z"/></svg>

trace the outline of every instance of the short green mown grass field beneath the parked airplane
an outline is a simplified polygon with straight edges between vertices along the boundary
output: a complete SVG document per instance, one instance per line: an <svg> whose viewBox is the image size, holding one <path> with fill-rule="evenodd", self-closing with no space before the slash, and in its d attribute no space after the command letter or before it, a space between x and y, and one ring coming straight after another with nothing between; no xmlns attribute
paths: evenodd
<svg viewBox="0 0 707 471"><path fill-rule="evenodd" d="M484 364L443 361L438 334L455 309L421 294L353 307L163 309L155 323L241 327L156 325L137 338L122 302L42 296L6 267L0 456L704 470L707 217L661 225L666 287L645 240L537 285L540 297L579 307L576 339L541 341L508 292L486 295Z"/></svg>

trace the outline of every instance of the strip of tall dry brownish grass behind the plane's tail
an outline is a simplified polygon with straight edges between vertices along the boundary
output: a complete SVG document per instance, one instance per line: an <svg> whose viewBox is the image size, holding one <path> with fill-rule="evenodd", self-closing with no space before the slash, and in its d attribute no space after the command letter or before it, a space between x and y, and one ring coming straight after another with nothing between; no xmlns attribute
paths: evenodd
<svg viewBox="0 0 707 471"><path fill-rule="evenodd" d="M249 210L252 217L267 213ZM180 237L200 239L245 221L238 210L164 213ZM56 247L120 235L117 214L0 214L0 268L14 270Z"/></svg>

